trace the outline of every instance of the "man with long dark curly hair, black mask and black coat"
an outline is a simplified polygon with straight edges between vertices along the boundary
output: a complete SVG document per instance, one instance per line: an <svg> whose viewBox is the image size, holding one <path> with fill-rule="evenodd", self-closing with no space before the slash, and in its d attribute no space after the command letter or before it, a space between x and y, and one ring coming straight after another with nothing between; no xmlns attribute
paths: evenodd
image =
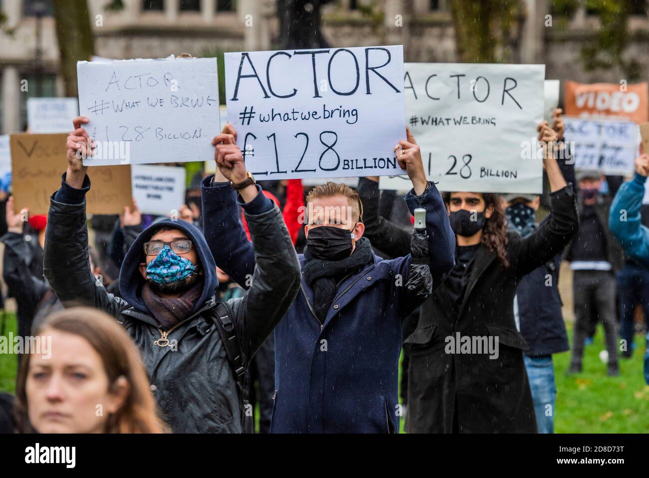
<svg viewBox="0 0 649 478"><path fill-rule="evenodd" d="M520 279L563 250L578 227L572 188L547 145L556 132L538 127L550 182L550 220L530 236L508 233L500 197L443 195L456 233L456 266L421 306L410 344L408 433L535 433L537 423L516 330L513 299ZM360 186L363 197L365 186ZM369 208L369 210L375 210ZM373 244L396 255L402 234L367 217ZM401 246L402 247L402 246Z"/></svg>

